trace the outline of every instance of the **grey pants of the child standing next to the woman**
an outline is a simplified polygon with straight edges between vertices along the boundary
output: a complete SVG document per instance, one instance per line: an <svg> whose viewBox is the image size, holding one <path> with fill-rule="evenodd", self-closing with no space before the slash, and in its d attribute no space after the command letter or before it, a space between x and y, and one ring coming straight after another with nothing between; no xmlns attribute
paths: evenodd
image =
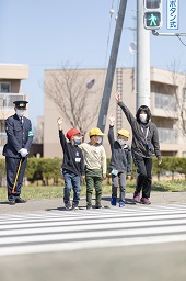
<svg viewBox="0 0 186 281"><path fill-rule="evenodd" d="M126 173L119 172L117 176L112 175L112 198L117 198L117 189L119 187L119 202L125 202L126 193Z"/></svg>

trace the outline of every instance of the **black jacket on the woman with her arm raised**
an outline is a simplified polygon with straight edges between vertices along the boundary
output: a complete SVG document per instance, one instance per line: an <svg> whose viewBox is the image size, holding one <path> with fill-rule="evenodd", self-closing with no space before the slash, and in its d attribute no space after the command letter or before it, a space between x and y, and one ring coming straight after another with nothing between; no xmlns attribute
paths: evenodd
<svg viewBox="0 0 186 281"><path fill-rule="evenodd" d="M118 102L118 105L124 111L132 130L132 144L131 144L132 154L151 158L154 150L156 158L160 160L161 153L160 153L159 135L158 135L158 130L155 124L152 122L149 122L149 133L146 138L144 133L142 132L142 123L137 122L137 120L133 117L129 109L121 101ZM147 143L151 147L153 147L153 149L148 149Z"/></svg>

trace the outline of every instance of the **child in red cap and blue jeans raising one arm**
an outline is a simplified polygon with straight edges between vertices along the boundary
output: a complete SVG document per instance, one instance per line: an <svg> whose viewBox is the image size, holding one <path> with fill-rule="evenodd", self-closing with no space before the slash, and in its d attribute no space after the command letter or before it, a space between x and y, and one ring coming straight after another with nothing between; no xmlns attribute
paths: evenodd
<svg viewBox="0 0 186 281"><path fill-rule="evenodd" d="M62 175L65 179L63 202L67 210L77 210L80 201L80 177L84 175L84 159L82 150L78 147L81 143L81 133L77 128L70 128L66 137L62 132L62 121L57 120L60 144L63 150ZM73 202L70 204L70 191L73 189Z"/></svg>

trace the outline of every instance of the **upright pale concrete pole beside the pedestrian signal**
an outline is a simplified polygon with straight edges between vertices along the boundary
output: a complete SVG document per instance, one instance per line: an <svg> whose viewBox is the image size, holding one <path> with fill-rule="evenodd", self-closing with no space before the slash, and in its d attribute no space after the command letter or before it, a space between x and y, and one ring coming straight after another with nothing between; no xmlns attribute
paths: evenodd
<svg viewBox="0 0 186 281"><path fill-rule="evenodd" d="M137 0L137 109L150 108L150 32L143 27L143 0Z"/></svg>

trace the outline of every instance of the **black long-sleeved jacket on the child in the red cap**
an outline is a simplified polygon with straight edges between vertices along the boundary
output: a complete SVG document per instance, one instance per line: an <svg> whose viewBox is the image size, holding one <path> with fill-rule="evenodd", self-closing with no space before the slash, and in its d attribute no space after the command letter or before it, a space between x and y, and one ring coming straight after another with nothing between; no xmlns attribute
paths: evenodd
<svg viewBox="0 0 186 281"><path fill-rule="evenodd" d="M63 132L59 130L60 144L63 151L62 169L74 172L75 175L84 175L84 158L80 147L67 143Z"/></svg>

